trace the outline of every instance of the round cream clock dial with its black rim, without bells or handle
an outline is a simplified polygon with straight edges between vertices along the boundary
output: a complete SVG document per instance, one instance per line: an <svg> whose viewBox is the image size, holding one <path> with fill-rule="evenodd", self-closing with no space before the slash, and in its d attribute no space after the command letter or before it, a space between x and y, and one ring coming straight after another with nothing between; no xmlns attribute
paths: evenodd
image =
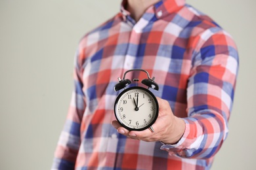
<svg viewBox="0 0 256 170"><path fill-rule="evenodd" d="M127 88L118 95L114 112L123 127L140 131L152 126L158 118L158 101L146 88Z"/></svg>

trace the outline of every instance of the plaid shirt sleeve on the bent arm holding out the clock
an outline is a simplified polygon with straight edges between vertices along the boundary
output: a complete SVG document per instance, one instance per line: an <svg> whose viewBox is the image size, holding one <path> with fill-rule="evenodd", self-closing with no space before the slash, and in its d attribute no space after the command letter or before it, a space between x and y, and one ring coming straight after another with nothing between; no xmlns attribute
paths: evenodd
<svg viewBox="0 0 256 170"><path fill-rule="evenodd" d="M237 74L233 39L223 30L205 31L192 59L184 135L177 144L163 144L161 149L182 158L214 156L228 134Z"/></svg>

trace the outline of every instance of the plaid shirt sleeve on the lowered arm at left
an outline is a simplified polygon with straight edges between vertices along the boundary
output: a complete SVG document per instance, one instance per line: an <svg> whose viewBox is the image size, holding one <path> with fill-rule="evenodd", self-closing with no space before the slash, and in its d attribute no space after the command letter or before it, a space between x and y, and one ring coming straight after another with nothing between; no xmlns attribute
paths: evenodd
<svg viewBox="0 0 256 170"><path fill-rule="evenodd" d="M66 117L66 122L55 150L52 169L74 169L75 160L81 144L80 127L86 104L85 95L82 90L82 74L79 69L80 64L78 59L79 54L77 53L74 69L74 91L72 92L68 116Z"/></svg>

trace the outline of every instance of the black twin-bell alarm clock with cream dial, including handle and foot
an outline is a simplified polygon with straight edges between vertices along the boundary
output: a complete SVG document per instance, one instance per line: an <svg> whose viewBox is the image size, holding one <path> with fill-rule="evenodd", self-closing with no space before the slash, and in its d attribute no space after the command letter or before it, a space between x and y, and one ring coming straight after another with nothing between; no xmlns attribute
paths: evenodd
<svg viewBox="0 0 256 170"><path fill-rule="evenodd" d="M131 80L125 79L125 75L131 71L142 71L146 73L148 78L141 81L147 88L137 86L138 78L134 78L135 86L125 88L131 84ZM115 92L123 89L117 95L114 104L114 114L116 120L130 131L142 131L149 128L154 132L152 124L158 118L158 101L155 95L150 92L149 88L158 90L158 84L154 82L154 77L150 78L144 69L131 69L124 73L123 79L118 78L119 82L114 86Z"/></svg>

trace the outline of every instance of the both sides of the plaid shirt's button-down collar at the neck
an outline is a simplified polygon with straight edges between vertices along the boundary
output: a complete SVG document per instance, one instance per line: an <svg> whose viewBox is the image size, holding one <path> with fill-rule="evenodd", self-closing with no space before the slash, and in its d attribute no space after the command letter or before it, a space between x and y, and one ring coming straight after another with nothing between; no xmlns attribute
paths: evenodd
<svg viewBox="0 0 256 170"><path fill-rule="evenodd" d="M123 15L123 20L127 20L127 16L131 13L125 9L127 5L127 0L123 0L121 3L121 14ZM161 0L154 4L154 12L157 18L163 18L164 16L173 13L185 5L185 0Z"/></svg>

